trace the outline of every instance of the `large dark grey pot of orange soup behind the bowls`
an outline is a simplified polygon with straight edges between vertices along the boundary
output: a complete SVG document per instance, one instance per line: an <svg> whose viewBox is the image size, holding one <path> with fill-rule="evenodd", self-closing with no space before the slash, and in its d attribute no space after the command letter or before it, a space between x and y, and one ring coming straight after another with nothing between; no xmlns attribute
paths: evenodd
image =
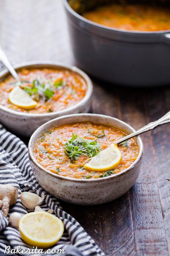
<svg viewBox="0 0 170 256"><path fill-rule="evenodd" d="M117 85L170 83L169 1L63 2L77 66Z"/></svg>

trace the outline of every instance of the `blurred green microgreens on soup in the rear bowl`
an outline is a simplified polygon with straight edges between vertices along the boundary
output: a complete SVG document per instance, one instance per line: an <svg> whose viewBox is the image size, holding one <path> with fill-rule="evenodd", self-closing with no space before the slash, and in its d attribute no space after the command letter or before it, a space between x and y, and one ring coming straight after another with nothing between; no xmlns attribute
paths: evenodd
<svg viewBox="0 0 170 256"><path fill-rule="evenodd" d="M40 78L37 78L32 82L31 87L24 87L24 91L26 91L30 96L34 95L34 99L37 101L39 101L40 98L43 98L44 101L48 101L54 95L55 89L62 85L62 80L58 83L53 83L52 80L47 80L43 83Z"/></svg>

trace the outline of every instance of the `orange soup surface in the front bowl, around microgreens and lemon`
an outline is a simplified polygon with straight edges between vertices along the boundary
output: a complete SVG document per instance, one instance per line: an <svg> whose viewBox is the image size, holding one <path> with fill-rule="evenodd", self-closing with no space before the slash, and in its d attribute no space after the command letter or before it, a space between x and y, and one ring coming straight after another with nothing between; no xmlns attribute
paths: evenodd
<svg viewBox="0 0 170 256"><path fill-rule="evenodd" d="M130 139L118 145L122 161L114 170L104 172L86 170L84 165L89 157L80 155L77 160L72 160L65 153L65 144L73 134L97 142L100 150L108 148L115 140L126 135L119 129L91 122L54 127L44 132L35 143L34 156L37 162L45 169L61 176L90 179L119 173L128 168L137 158L137 145L133 139Z"/></svg>

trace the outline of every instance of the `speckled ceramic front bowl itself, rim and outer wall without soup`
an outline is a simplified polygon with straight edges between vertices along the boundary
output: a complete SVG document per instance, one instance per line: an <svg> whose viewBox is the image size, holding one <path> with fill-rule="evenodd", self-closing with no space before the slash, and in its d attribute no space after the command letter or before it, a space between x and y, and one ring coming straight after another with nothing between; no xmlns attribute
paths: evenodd
<svg viewBox="0 0 170 256"><path fill-rule="evenodd" d="M42 132L45 132L54 126L56 127L74 122L93 122L95 124L110 125L122 129L128 134L135 131L132 127L119 119L97 114L67 115L47 122L34 132L28 145L31 167L40 186L58 199L73 204L83 205L106 203L125 194L135 183L139 175L143 154L143 143L140 137L135 138L139 148L139 155L135 162L121 173L109 177L91 180L63 177L51 173L37 163L33 150L34 144Z"/></svg>

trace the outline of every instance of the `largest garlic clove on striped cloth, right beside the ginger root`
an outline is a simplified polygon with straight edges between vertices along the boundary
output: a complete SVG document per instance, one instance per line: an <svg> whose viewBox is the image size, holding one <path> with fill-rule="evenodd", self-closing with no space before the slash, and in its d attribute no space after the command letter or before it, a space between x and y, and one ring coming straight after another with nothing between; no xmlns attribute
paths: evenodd
<svg viewBox="0 0 170 256"><path fill-rule="evenodd" d="M39 197L37 194L30 192L23 192L20 196L21 203L27 209L35 209L35 206L42 204L44 197Z"/></svg>

